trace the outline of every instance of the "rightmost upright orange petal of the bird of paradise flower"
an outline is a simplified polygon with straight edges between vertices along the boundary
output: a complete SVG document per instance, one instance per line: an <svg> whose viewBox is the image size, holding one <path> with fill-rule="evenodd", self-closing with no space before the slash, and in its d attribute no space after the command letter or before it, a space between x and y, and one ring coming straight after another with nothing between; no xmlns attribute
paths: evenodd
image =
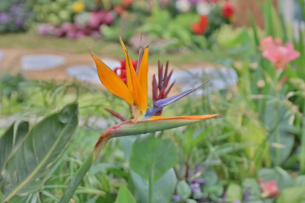
<svg viewBox="0 0 305 203"><path fill-rule="evenodd" d="M148 75L148 46L144 49L143 57L139 67L138 79L143 94L143 106L148 106L147 101L147 75Z"/></svg>

